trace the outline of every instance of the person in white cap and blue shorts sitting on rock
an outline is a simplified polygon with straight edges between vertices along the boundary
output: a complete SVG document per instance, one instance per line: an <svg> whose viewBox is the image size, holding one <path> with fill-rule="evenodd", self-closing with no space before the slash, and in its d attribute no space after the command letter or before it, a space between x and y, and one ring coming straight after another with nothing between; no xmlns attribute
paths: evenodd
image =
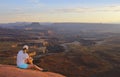
<svg viewBox="0 0 120 77"><path fill-rule="evenodd" d="M18 52L17 54L17 67L18 68L22 68L22 69L33 68L33 69L43 71L43 72L47 71L33 64L33 59L32 57L29 57L27 52L28 52L28 45L24 45L23 49Z"/></svg>

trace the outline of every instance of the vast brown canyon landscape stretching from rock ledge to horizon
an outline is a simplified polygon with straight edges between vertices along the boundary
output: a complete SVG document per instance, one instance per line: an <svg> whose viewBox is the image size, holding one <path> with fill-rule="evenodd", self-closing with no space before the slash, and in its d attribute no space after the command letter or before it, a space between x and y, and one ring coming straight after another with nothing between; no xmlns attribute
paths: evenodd
<svg viewBox="0 0 120 77"><path fill-rule="evenodd" d="M67 77L120 77L120 24L0 24L0 64L30 46L34 63Z"/></svg>

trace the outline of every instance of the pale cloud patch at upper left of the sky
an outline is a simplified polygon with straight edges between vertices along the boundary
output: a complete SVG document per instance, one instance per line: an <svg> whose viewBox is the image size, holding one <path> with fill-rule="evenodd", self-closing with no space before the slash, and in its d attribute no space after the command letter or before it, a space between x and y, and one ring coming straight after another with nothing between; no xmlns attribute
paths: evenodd
<svg viewBox="0 0 120 77"><path fill-rule="evenodd" d="M39 2L40 0L27 0L28 3L32 4L31 6L21 6L21 7L12 7L7 9L7 12L2 13L8 14L8 15L16 15L16 16L21 16L21 15L34 15L36 13L40 13L41 11L37 10L42 7L43 4Z"/></svg>

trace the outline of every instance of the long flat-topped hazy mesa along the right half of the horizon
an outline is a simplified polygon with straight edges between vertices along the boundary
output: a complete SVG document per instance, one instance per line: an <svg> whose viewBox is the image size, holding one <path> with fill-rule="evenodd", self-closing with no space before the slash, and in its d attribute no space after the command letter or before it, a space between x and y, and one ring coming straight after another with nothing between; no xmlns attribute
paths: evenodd
<svg viewBox="0 0 120 77"><path fill-rule="evenodd" d="M92 31L92 32L119 32L120 24L101 23L54 23L52 25L57 30L64 31Z"/></svg>

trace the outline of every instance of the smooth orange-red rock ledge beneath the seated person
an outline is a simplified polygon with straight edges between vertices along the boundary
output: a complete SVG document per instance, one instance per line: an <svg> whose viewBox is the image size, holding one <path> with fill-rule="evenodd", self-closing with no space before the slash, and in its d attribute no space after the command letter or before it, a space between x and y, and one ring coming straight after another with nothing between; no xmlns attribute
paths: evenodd
<svg viewBox="0 0 120 77"><path fill-rule="evenodd" d="M19 69L11 65L0 65L0 77L65 77L53 72Z"/></svg>

